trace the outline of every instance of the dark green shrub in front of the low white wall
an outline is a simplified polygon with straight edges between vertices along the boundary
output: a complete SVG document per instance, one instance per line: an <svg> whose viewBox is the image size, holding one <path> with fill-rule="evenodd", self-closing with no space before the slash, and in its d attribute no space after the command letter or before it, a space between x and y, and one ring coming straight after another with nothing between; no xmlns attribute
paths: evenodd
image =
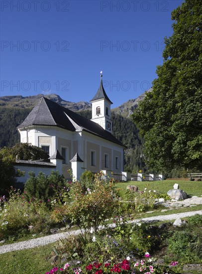
<svg viewBox="0 0 202 274"><path fill-rule="evenodd" d="M44 173L39 172L38 176L35 176L34 172L28 173L30 178L26 181L24 191L28 201L33 197L47 202L48 199L55 199L60 194L60 191L66 188L66 180L63 175L60 175L58 171L51 171L49 176L45 176Z"/></svg>

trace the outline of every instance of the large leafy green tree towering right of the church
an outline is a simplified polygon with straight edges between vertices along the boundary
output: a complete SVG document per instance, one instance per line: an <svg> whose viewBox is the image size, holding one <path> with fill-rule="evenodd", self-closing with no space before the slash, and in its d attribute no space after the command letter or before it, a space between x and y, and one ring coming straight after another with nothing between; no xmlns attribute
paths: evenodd
<svg viewBox="0 0 202 274"><path fill-rule="evenodd" d="M158 78L133 114L154 171L202 169L202 5L186 0L172 12Z"/></svg>

